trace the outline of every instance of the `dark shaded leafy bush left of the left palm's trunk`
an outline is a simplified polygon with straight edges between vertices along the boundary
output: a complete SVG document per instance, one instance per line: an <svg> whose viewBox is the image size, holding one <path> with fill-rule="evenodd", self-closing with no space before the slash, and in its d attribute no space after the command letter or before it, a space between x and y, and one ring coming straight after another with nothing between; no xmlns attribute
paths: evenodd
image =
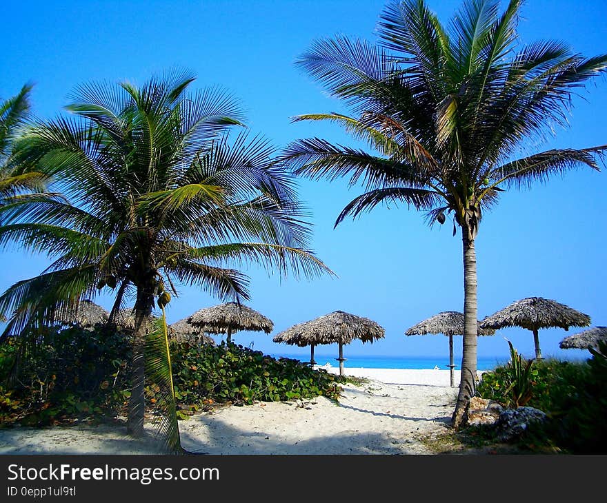
<svg viewBox="0 0 607 503"><path fill-rule="evenodd" d="M23 334L26 335L26 334ZM115 417L126 403L129 343L99 327L47 329L0 345L0 423Z"/></svg>

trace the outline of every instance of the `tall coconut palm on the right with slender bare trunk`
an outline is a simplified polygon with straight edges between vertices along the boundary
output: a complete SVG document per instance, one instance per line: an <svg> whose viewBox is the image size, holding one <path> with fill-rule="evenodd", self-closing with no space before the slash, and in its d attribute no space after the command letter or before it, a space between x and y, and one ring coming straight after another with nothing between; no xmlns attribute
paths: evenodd
<svg viewBox="0 0 607 503"><path fill-rule="evenodd" d="M498 1L466 0L444 26L423 0L392 1L379 20L379 45L343 36L315 41L297 64L353 114L295 121L332 121L371 150L308 138L281 154L296 174L364 185L335 225L381 203L412 205L430 224L452 214L454 236L461 229L465 292L455 427L475 393L475 239L484 210L510 187L582 165L598 170L607 148L521 154L529 138L566 125L570 94L604 72L607 57L585 58L553 41L517 46L520 6L510 0L500 13Z"/></svg>

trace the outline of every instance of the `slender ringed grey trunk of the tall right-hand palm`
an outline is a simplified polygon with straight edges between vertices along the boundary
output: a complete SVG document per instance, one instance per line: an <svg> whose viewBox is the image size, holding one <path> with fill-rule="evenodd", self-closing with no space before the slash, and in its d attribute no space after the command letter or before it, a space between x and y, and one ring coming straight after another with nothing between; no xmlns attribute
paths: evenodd
<svg viewBox="0 0 607 503"><path fill-rule="evenodd" d="M475 395L477 384L477 257L475 232L468 226L461 226L461 240L464 247L464 349L461 356L461 377L459 394L452 415L453 426L457 429L464 419L468 400Z"/></svg>

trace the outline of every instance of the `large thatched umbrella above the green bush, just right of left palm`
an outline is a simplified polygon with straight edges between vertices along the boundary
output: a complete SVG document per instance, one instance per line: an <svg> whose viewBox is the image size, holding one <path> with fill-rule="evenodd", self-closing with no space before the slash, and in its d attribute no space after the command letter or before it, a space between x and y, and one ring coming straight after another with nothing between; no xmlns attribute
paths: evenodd
<svg viewBox="0 0 607 503"><path fill-rule="evenodd" d="M207 333L227 333L228 342L232 340L232 333L238 330L270 333L274 329L272 320L238 302L199 309L186 320Z"/></svg>

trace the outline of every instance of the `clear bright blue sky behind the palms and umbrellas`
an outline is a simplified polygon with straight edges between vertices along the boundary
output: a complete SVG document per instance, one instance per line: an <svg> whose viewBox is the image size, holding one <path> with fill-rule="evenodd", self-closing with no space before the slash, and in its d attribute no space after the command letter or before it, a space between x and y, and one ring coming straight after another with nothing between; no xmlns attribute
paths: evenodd
<svg viewBox="0 0 607 503"><path fill-rule="evenodd" d="M0 97L16 94L31 81L34 112L48 117L61 113L79 83L143 83L154 73L187 68L198 75L195 87L222 85L241 99L250 130L278 147L307 136L351 144L330 125L290 123L297 114L345 111L293 62L319 37L346 34L375 41L384 5L382 0L8 1L3 3ZM459 0L428 0L428 5L446 22ZM604 0L528 0L522 14L523 43L558 39L586 56L607 53ZM593 81L580 94L573 97L570 129L557 130L555 138L530 148L607 143L606 79ZM281 281L249 269L248 305L271 318L275 331L270 336L243 332L235 340L266 353L306 358L308 349L277 345L272 336L341 309L386 329L386 338L372 345L353 342L346 357L446 355L444 336L407 337L404 332L440 311L463 309L459 233L452 237L448 224L429 228L421 214L406 207L378 208L333 229L341 208L361 189L348 189L343 182L299 185L312 214L312 247L339 278ZM477 238L479 318L520 298L542 296L585 312L592 325L607 325L606 189L603 167L601 173L578 170L504 194L485 215ZM44 258L20 251L2 255L1 291L46 265ZM111 305L110 298L98 302ZM202 291L181 287L168 308L168 321L217 303ZM590 356L558 347L559 340L579 330L540 331L544 356ZM479 338L479 356L507 358L504 337L533 356L533 335L524 329ZM336 352L332 346L317 349L321 355ZM455 352L461 355L461 338L456 338Z"/></svg>

